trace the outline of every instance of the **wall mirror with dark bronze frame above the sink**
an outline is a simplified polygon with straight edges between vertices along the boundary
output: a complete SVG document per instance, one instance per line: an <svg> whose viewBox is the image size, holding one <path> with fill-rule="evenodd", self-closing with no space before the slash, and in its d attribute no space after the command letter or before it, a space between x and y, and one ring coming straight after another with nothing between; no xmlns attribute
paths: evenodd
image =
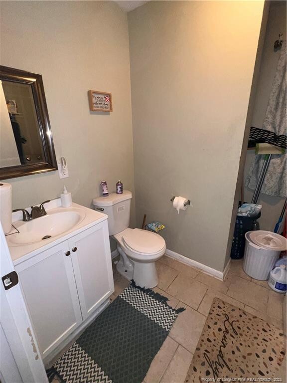
<svg viewBox="0 0 287 383"><path fill-rule="evenodd" d="M0 180L53 170L42 76L0 66Z"/></svg>

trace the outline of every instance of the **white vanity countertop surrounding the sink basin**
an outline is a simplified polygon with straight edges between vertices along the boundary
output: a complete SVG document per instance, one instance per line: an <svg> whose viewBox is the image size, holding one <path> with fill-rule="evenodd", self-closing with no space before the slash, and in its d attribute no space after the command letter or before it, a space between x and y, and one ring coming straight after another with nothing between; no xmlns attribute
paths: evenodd
<svg viewBox="0 0 287 383"><path fill-rule="evenodd" d="M34 243L26 243L26 244L15 244L12 241L12 236L15 236L17 234L7 235L6 241L9 247L10 255L12 258L12 261L14 265L17 265L31 256L37 254L39 252L39 249L41 251L44 251L52 246L55 246L56 244L63 242L64 240L80 233L83 230L88 229L89 227L94 226L97 223L100 223L106 219L108 219L108 216L106 214L103 214L99 211L90 209L85 206L78 205L77 203L72 203L70 207L62 207L60 198L54 199L51 202L45 204L45 209L47 214L53 214L55 212L62 212L62 211L76 211L80 212L82 215L82 219L79 223L77 223L75 226L73 226L70 230L67 230L64 233L61 233L59 235L53 236L51 238L45 239L43 241L38 241ZM30 209L27 209L28 211ZM21 225L25 224L21 220L22 213L16 212L12 213L12 223L17 227L19 231L21 231ZM35 221L39 218L35 218ZM12 228L10 233L15 232L15 229Z"/></svg>

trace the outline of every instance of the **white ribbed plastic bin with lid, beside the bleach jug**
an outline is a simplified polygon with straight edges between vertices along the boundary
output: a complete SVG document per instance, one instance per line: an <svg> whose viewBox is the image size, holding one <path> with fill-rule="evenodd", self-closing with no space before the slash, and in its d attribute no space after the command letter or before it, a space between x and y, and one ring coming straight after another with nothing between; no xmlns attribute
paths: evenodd
<svg viewBox="0 0 287 383"><path fill-rule="evenodd" d="M281 251L286 250L286 238L271 231L256 230L245 234L243 270L252 278L265 281Z"/></svg>

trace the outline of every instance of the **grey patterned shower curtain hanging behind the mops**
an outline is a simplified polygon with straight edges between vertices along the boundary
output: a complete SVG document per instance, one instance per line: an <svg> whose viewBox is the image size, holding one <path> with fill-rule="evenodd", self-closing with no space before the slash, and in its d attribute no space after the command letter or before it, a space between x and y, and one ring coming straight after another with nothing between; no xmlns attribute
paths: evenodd
<svg viewBox="0 0 287 383"><path fill-rule="evenodd" d="M286 134L286 41L282 45L277 71L273 80L263 129ZM260 127L258 127L260 128ZM255 189L264 155L254 156L246 177L245 186ZM261 192L268 195L286 197L286 154L272 155Z"/></svg>

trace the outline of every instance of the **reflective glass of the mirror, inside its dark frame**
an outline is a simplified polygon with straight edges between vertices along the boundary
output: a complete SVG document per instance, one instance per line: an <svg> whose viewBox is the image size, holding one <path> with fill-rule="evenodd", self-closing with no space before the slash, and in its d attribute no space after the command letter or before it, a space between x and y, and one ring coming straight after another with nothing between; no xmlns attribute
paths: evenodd
<svg viewBox="0 0 287 383"><path fill-rule="evenodd" d="M31 86L1 81L0 98L0 167L43 162Z"/></svg>

